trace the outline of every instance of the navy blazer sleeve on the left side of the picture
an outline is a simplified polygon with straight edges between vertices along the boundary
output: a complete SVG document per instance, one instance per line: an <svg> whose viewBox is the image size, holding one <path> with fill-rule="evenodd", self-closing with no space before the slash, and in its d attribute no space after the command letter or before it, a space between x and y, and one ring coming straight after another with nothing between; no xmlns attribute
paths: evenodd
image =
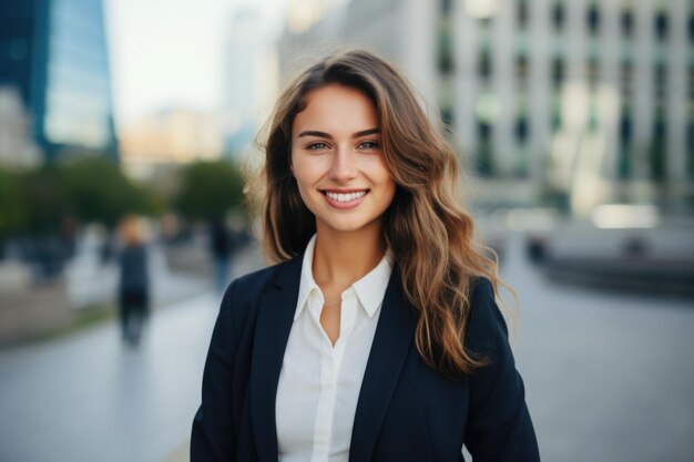
<svg viewBox="0 0 694 462"><path fill-rule="evenodd" d="M237 335L233 322L236 281L227 289L214 326L203 372L202 404L193 420L191 462L233 461L236 429L232 412L232 374Z"/></svg>

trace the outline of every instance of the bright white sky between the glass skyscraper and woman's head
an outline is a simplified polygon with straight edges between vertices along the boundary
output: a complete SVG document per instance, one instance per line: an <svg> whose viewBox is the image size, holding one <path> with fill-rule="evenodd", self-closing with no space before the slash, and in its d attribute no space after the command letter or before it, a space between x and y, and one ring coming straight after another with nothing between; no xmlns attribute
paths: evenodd
<svg viewBox="0 0 694 462"><path fill-rule="evenodd" d="M162 109L221 109L224 52L236 8L280 24L285 0L104 0L116 127Z"/></svg>

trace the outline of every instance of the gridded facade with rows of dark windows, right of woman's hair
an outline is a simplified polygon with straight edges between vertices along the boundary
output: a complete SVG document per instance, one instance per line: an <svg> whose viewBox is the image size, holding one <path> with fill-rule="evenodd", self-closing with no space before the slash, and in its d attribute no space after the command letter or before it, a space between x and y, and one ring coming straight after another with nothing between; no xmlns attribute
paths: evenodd
<svg viewBox="0 0 694 462"><path fill-rule="evenodd" d="M455 126L483 175L545 179L579 209L692 195L692 2L467 0L451 14Z"/></svg>

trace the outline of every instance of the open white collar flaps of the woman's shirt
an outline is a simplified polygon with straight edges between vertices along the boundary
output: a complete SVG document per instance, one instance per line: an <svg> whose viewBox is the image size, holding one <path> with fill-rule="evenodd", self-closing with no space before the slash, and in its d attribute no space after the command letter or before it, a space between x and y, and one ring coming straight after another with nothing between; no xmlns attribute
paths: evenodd
<svg viewBox="0 0 694 462"><path fill-rule="evenodd" d="M306 251L304 251L304 260L302 263L302 279L299 283L299 296L297 300L298 302L296 305L296 312L294 314L294 320L297 320L298 317L302 315L302 311L306 306L306 301L308 300L310 292L314 289L320 290L314 279L313 274L316 235L314 234L314 236L308 242L308 245L306 246ZM390 274L392 273L391 259L392 257L390 255L390 251L386 251L384 258L381 258L379 264L376 265L374 269L371 269L361 279L351 285L351 288L354 288L357 297L359 298L359 302L370 318L376 315L376 311L378 311L378 308L384 300L384 296L386 295L388 280L390 279Z"/></svg>

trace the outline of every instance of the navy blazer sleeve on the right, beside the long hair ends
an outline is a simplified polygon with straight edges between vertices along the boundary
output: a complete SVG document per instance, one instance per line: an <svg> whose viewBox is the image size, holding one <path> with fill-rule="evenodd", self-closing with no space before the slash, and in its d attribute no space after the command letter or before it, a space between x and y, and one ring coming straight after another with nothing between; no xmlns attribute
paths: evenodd
<svg viewBox="0 0 694 462"><path fill-rule="evenodd" d="M516 370L503 316L488 279L474 283L466 345L487 363L469 378L465 444L474 462L540 461L538 441Z"/></svg>

